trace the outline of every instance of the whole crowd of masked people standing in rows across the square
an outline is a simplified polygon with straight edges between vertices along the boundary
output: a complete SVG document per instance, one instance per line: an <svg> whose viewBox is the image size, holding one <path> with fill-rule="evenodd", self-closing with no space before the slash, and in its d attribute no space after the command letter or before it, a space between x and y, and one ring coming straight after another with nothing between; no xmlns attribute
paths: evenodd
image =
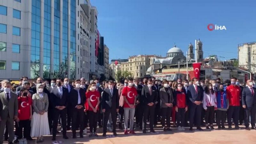
<svg viewBox="0 0 256 144"><path fill-rule="evenodd" d="M123 83L81 78L71 83L68 78L43 81L41 77L29 82L23 76L19 85L3 80L0 144L4 139L17 143L32 137L39 143L44 141L44 135L50 134L56 140L58 124L64 139L68 139L69 130L72 138L76 138L77 130L83 138L88 123L89 137L98 137L97 127L103 127L103 137L108 130L116 136L117 124L124 135L136 134L136 128L146 133L147 122L151 133L156 133L154 127L158 122L164 132L176 127L178 131L185 131L185 127L193 131L194 126L196 131L203 131L201 126L214 130L214 123L218 129L226 129L226 119L228 129L234 123L235 129L244 124L246 130L256 130L255 87L254 81L240 84L235 77L225 82L219 78L160 81L153 77L128 78Z"/></svg>

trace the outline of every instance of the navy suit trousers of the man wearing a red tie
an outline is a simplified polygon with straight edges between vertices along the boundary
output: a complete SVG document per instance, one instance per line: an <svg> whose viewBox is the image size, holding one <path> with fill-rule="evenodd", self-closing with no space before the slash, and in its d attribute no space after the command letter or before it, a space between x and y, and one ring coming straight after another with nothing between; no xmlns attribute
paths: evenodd
<svg viewBox="0 0 256 144"><path fill-rule="evenodd" d="M200 127L201 125L201 114L202 114L202 104L196 105L194 103L190 104L189 108L189 126L193 127L194 118L196 119L196 127Z"/></svg>

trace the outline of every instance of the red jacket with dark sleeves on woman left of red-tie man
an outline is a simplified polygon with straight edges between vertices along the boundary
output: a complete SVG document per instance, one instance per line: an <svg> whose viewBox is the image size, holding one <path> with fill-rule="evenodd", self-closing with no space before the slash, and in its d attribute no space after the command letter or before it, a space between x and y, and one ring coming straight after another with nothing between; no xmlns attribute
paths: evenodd
<svg viewBox="0 0 256 144"><path fill-rule="evenodd" d="M186 101L186 91L183 89L181 91L176 90L174 92L174 105L177 108L185 108L187 106L187 101Z"/></svg>

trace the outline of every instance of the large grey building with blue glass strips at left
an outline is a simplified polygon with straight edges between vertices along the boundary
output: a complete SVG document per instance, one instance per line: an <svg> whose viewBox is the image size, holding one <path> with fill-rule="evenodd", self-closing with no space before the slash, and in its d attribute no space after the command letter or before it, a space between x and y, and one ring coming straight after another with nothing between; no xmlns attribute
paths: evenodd
<svg viewBox="0 0 256 144"><path fill-rule="evenodd" d="M0 78L79 76L78 0L0 1Z"/></svg>

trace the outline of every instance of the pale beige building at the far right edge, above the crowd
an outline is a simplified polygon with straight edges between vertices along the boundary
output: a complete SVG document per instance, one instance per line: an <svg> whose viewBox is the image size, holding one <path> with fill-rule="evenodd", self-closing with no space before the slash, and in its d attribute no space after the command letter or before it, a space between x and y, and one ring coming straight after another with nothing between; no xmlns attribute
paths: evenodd
<svg viewBox="0 0 256 144"><path fill-rule="evenodd" d="M256 42L238 44L238 65L256 73Z"/></svg>

